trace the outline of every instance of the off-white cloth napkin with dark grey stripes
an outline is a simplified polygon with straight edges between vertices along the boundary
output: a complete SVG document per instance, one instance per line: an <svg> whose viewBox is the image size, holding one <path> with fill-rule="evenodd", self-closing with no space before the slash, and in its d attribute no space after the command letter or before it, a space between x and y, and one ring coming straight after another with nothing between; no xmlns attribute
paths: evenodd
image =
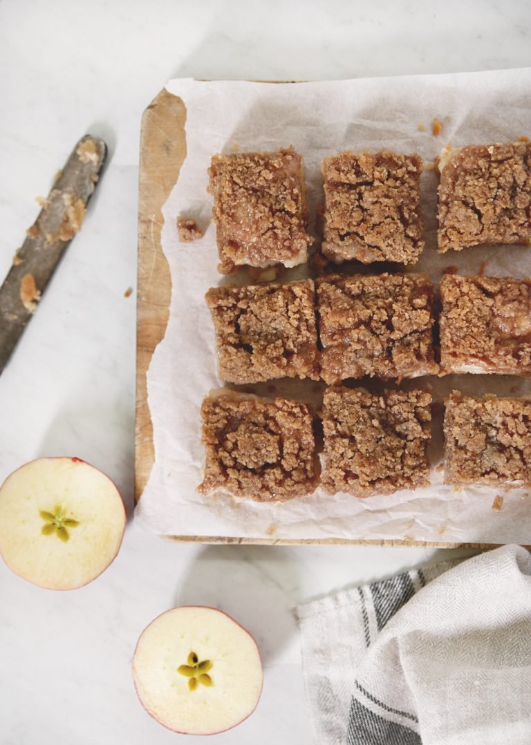
<svg viewBox="0 0 531 745"><path fill-rule="evenodd" d="M506 545L298 608L318 745L529 745L531 556Z"/></svg>

